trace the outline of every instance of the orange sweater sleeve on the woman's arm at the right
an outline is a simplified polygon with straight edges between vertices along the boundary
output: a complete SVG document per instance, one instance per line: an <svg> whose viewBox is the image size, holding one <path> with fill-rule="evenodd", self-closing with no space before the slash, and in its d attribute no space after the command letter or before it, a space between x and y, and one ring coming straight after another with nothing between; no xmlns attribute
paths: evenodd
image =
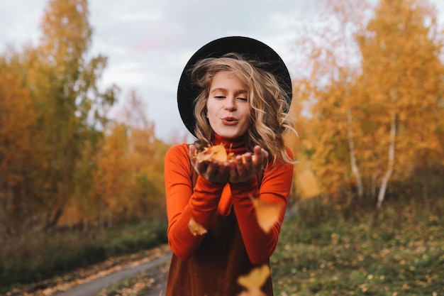
<svg viewBox="0 0 444 296"><path fill-rule="evenodd" d="M287 153L292 157L289 149L287 149ZM250 261L253 264L267 261L277 246L292 180L293 165L277 164L265 170L259 189L257 189L256 178L243 183L231 184L233 206L240 232ZM265 202L282 205L279 220L274 224L269 233L265 233L257 224L255 208L250 199L251 196Z"/></svg>

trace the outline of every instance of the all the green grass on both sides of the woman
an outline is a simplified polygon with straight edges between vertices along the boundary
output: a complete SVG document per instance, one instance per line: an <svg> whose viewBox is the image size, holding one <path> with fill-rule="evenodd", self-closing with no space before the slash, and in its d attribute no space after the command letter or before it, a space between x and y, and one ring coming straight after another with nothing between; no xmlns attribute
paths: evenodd
<svg viewBox="0 0 444 296"><path fill-rule="evenodd" d="M27 241L28 251L17 250L21 261L0 263L0 282L50 276L150 248L166 241L166 230L165 225L140 224L94 239L82 236L53 238L36 261L30 260L36 245ZM388 201L379 211L318 199L302 202L284 222L271 263L275 296L444 295L444 199ZM157 268L148 270L101 295L145 295L159 275Z"/></svg>

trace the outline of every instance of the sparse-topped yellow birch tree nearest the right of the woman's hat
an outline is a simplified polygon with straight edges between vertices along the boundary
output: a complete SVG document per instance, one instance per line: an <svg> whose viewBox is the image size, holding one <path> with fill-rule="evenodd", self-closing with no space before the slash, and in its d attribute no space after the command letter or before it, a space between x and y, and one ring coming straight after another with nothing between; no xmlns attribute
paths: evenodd
<svg viewBox="0 0 444 296"><path fill-rule="evenodd" d="M359 102L350 88L360 72L360 54L353 35L364 29L368 5L366 1L330 0L317 4L321 25L305 28L297 41L298 48L303 48L308 56L301 68L309 70L295 83L302 86L295 94L305 102L305 110L303 107L301 111L309 114L307 124L312 130L306 133L308 138L303 143L308 146L303 149L309 152L324 188L338 192L354 178L357 197L362 197L364 189L355 148L355 112ZM334 159L332 155L339 151L340 157ZM350 194L351 190L346 191Z"/></svg>

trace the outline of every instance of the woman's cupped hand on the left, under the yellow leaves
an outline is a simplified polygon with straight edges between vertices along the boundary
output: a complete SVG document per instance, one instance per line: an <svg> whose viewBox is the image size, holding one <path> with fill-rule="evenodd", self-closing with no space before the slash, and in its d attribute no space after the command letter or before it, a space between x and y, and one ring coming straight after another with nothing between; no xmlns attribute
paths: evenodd
<svg viewBox="0 0 444 296"><path fill-rule="evenodd" d="M218 160L204 161L197 163L192 155L196 153L196 146L189 146L189 158L192 166L196 172L204 177L209 182L213 183L226 183L230 174L230 168L228 163L219 164Z"/></svg>

